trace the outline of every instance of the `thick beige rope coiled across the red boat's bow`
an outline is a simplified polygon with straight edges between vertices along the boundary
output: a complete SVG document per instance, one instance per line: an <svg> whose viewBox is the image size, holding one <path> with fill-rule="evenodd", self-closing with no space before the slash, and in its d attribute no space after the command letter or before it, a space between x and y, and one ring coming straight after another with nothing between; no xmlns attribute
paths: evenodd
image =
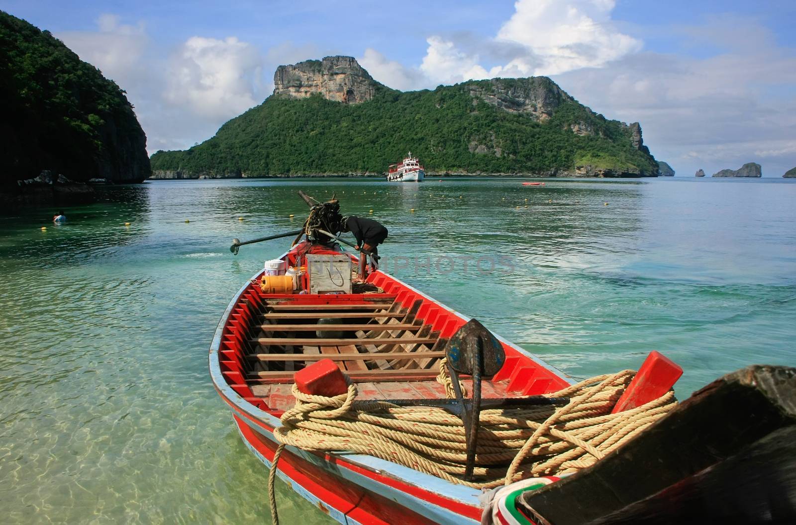
<svg viewBox="0 0 796 525"><path fill-rule="evenodd" d="M444 383L447 371L440 370ZM611 414L635 372L598 375L547 394L569 398L565 406L482 410L474 475L462 479L466 437L462 420L433 406L400 407L357 400L357 386L334 397L307 395L293 385L296 404L274 437L284 445L317 452L368 454L472 488L494 488L533 476L556 476L593 465L662 418L677 399L669 391L637 408ZM447 378L450 383L450 377ZM452 383L451 383L452 384ZM446 385L446 391L450 385ZM271 467L271 476L276 469ZM269 477L271 512L275 516ZM275 521L275 523L278 523Z"/></svg>

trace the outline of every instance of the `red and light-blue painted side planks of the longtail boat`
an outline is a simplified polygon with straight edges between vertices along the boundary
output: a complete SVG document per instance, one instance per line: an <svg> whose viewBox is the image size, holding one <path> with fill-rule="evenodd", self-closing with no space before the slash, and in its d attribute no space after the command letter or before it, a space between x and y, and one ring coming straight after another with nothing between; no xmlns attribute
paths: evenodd
<svg viewBox="0 0 796 525"><path fill-rule="evenodd" d="M401 304L413 305L417 317L430 323L441 336L451 336L469 321L468 317L380 271L370 274L368 281L395 294L396 301ZM259 288L248 283L233 297L213 338L209 367L214 386L232 409L244 443L270 468L279 445L272 434L275 426L280 425L279 414L264 410L267 407L252 395L244 370L236 362L240 349L235 348L235 330L255 315L253 303L257 294ZM307 296L298 297L307 300ZM336 296L334 300L344 298ZM494 380L503 381L517 395L552 392L572 384L559 371L522 348L498 339L505 350L506 361ZM288 446L280 458L278 475L339 523L454 525L478 523L482 513L478 489L451 484L436 476L361 454L312 453Z"/></svg>

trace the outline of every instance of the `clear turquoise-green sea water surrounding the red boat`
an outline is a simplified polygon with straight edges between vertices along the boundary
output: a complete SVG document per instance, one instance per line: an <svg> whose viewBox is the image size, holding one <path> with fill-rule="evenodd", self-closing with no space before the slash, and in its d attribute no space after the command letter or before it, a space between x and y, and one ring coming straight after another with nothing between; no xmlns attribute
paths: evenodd
<svg viewBox="0 0 796 525"><path fill-rule="evenodd" d="M60 227L52 210L0 216L4 523L270 519L267 472L213 391L207 348L232 294L287 248L234 257L232 237L300 227L298 189L373 209L386 270L576 378L657 349L685 368L684 398L747 364L796 366L794 181L115 187ZM331 523L283 484L279 508Z"/></svg>

